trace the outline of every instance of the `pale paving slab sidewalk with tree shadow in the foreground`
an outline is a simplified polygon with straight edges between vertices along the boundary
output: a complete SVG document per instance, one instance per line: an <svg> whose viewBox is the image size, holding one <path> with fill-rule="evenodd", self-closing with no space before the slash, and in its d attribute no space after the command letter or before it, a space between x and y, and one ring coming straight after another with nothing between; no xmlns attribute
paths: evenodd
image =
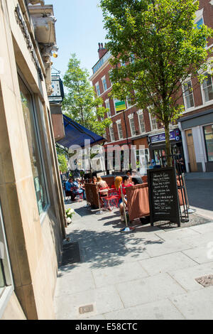
<svg viewBox="0 0 213 334"><path fill-rule="evenodd" d="M135 221L121 233L118 210L96 215L85 204L67 205L81 262L58 271L58 320L213 319L213 286L195 281L213 274L213 221L168 230Z"/></svg>

